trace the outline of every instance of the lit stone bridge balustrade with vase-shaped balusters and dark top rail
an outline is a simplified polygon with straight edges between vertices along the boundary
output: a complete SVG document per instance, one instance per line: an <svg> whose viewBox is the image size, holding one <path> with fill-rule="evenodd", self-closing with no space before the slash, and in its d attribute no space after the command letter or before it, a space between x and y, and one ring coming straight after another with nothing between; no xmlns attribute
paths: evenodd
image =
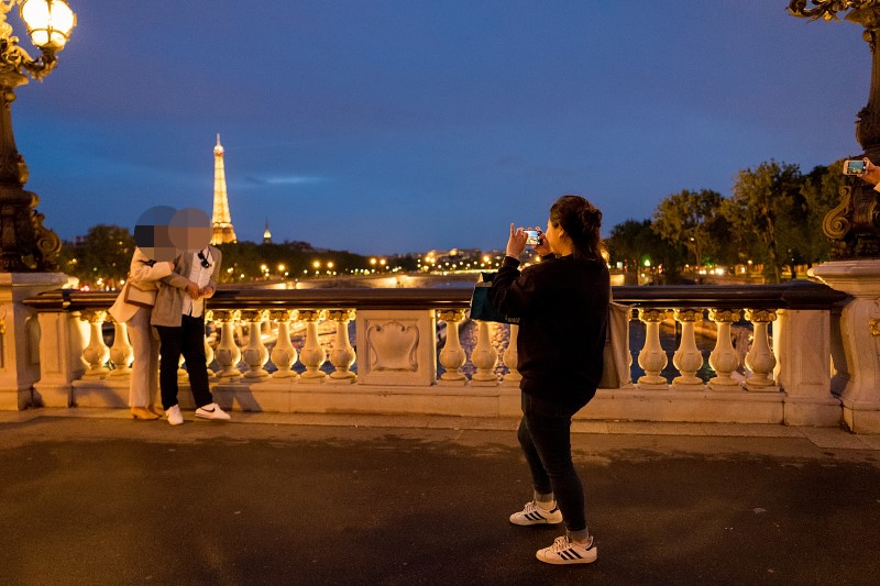
<svg viewBox="0 0 880 586"><path fill-rule="evenodd" d="M473 347L465 347L460 330L470 295L469 289L221 289L207 316L218 334L213 344L206 339L216 399L233 410L516 416L518 327L475 322ZM40 324L35 403L127 406L132 356L127 328L113 323L111 347L102 329L113 298L54 290L25 301ZM848 375L835 332L845 294L795 281L615 287L614 298L630 307L645 332L631 353L639 376L600 389L578 418L840 423L839 395ZM438 328L447 332L439 353ZM734 328L751 332L747 352L743 335L739 347L734 345ZM497 343L497 329L509 329L507 343ZM674 347L664 347L664 329L674 330ZM711 351L697 347L697 330L715 336ZM301 331L296 345L294 331ZM630 328L613 335L628 341ZM183 376L185 383L185 371ZM191 407L186 388L180 399Z"/></svg>

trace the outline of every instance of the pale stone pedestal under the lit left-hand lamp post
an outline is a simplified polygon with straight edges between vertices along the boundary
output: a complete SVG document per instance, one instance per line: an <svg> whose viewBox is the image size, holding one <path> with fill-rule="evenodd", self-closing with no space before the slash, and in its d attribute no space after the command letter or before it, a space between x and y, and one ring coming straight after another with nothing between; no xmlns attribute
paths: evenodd
<svg viewBox="0 0 880 586"><path fill-rule="evenodd" d="M0 410L32 406L40 380L40 323L22 301L65 283L61 273L0 273Z"/></svg>

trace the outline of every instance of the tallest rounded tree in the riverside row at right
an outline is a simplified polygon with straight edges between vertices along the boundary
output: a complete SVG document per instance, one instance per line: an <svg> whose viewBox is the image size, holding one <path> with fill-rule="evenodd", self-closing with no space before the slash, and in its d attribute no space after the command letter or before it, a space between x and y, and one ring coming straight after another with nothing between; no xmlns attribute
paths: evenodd
<svg viewBox="0 0 880 586"><path fill-rule="evenodd" d="M761 246L758 257L779 283L782 266L803 256L800 240L806 221L806 204L801 194L803 176L798 165L761 163L755 169L739 172L733 197L724 213L739 234L754 234Z"/></svg>

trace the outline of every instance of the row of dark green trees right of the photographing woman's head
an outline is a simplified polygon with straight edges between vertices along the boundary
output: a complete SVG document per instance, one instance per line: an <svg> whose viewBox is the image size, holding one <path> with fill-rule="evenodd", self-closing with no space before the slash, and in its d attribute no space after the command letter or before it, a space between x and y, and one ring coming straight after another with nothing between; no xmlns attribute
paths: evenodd
<svg viewBox="0 0 880 586"><path fill-rule="evenodd" d="M610 263L662 266L666 281L685 267L762 265L779 283L788 267L826 261L825 214L838 204L843 159L803 174L799 165L769 161L740 170L729 197L711 189L664 198L650 219L615 225L605 241Z"/></svg>

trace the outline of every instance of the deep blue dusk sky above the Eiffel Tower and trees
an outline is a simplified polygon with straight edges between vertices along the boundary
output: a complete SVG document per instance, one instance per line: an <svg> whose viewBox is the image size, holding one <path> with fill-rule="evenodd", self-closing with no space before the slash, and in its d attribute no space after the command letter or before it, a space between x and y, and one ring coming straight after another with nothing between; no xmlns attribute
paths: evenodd
<svg viewBox="0 0 880 586"><path fill-rule="evenodd" d="M260 242L502 248L585 196L603 235L765 161L855 155L862 29L788 0L70 0L61 63L13 122L45 225L211 212ZM16 15L10 22L32 49Z"/></svg>

